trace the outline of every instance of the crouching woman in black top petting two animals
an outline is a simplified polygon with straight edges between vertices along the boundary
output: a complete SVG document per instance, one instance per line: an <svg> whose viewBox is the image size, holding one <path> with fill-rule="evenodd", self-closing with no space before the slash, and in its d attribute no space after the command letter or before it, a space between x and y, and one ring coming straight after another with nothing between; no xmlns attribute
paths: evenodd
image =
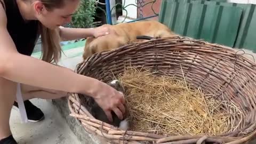
<svg viewBox="0 0 256 144"><path fill-rule="evenodd" d="M0 0L0 144L17 143L9 119L17 83L24 100L55 99L67 92L90 95L109 120L111 110L119 118L125 113L123 95L97 79L78 75L52 65L60 58L60 39L71 40L105 35L106 28L75 29L60 27L70 22L79 0ZM30 57L41 35L42 60Z"/></svg>

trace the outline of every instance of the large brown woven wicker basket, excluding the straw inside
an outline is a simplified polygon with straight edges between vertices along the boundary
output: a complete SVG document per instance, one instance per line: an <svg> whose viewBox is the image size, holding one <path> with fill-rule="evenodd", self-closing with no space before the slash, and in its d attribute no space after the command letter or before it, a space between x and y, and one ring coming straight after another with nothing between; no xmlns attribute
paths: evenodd
<svg viewBox="0 0 256 144"><path fill-rule="evenodd" d="M110 75L122 73L128 65L161 69L166 74L183 78L180 70L182 66L188 83L200 86L207 93L222 93L223 97L218 97L219 100L236 103L243 113L242 116L233 117L237 129L214 137L165 137L122 131L92 118L81 106L78 94L70 93L70 115L78 118L86 131L99 135L110 143L245 143L256 134L256 65L233 49L182 37L156 38L94 54L77 65L76 73L109 82L113 80Z"/></svg>

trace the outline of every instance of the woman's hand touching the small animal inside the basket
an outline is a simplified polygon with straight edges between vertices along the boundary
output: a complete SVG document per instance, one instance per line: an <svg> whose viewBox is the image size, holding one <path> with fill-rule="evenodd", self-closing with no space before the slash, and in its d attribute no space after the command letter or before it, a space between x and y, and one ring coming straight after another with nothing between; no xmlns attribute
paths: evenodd
<svg viewBox="0 0 256 144"><path fill-rule="evenodd" d="M109 121L113 122L111 115L112 110L116 113L119 119L123 119L123 114L125 113L125 100L123 93L102 82L99 82L97 87L98 89L95 90L93 98L103 111L105 111Z"/></svg>

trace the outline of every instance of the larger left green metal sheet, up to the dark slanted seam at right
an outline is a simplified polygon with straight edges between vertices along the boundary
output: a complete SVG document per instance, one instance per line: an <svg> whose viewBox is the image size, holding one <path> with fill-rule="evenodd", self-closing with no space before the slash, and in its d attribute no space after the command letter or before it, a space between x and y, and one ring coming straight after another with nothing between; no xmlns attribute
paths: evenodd
<svg viewBox="0 0 256 144"><path fill-rule="evenodd" d="M169 26L175 33L234 46L242 15L241 7L220 6L219 2L212 1L163 1L163 3L166 6L161 9L161 13L165 13L165 16L159 21Z"/></svg>

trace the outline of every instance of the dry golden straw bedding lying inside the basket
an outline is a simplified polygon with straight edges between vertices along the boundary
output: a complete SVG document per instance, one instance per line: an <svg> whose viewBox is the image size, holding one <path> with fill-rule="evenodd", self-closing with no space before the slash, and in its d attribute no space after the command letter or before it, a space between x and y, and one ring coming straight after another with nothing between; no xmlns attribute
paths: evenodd
<svg viewBox="0 0 256 144"><path fill-rule="evenodd" d="M181 68L182 69L182 68ZM175 76L156 76L157 71L127 67L117 79L125 88L132 117L131 130L161 135L218 135L235 129L230 101L214 100Z"/></svg>

